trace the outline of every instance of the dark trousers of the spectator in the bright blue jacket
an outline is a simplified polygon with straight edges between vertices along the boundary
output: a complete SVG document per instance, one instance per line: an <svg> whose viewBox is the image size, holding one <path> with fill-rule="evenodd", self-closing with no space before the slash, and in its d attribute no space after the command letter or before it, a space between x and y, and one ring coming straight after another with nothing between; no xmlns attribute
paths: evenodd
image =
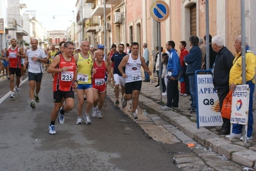
<svg viewBox="0 0 256 171"><path fill-rule="evenodd" d="M167 81L167 104L168 107L178 108L178 80L168 79Z"/></svg>

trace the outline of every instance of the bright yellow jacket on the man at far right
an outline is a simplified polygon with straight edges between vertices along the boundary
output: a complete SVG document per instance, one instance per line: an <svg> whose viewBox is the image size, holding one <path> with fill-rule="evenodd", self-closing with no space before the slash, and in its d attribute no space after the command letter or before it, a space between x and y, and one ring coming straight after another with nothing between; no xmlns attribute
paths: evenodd
<svg viewBox="0 0 256 171"><path fill-rule="evenodd" d="M246 82L247 81L254 81L255 76L255 65L256 65L256 56L252 53L252 51L246 51L245 54L245 60L246 60ZM242 80L242 58L241 58L241 52L237 53L237 56L235 56L235 59L233 61L233 66L230 70L229 74L229 85L232 85L234 83L235 85L241 85L243 83Z"/></svg>

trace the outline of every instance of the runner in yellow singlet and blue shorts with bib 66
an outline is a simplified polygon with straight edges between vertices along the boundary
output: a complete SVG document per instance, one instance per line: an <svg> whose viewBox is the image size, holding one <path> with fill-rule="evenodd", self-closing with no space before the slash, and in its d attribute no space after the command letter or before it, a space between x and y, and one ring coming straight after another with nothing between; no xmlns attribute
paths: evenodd
<svg viewBox="0 0 256 171"><path fill-rule="evenodd" d="M83 94L86 95L87 98L87 106L85 109L85 113L83 114L83 118L85 118L85 124L90 124L90 116L89 112L92 109L93 103L93 90L92 90L92 72L94 69L94 56L91 56L89 52L89 42L84 40L81 43L81 53L74 55L74 60L76 61L76 65L78 66L78 74L76 79L78 80L78 88L76 88L76 95L78 97L78 118L76 120L76 124L82 124L82 111L83 111Z"/></svg>

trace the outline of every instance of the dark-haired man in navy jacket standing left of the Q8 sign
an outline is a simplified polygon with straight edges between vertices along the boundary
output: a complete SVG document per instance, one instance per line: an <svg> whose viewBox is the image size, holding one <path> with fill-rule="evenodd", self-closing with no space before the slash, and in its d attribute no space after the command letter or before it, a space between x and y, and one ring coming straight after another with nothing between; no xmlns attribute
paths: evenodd
<svg viewBox="0 0 256 171"><path fill-rule="evenodd" d="M191 92L191 108L190 113L196 113L196 80L195 71L201 69L201 49L198 46L199 39L196 36L189 37L191 49L189 54L184 57L185 63L187 63L186 74L189 76L189 91Z"/></svg>

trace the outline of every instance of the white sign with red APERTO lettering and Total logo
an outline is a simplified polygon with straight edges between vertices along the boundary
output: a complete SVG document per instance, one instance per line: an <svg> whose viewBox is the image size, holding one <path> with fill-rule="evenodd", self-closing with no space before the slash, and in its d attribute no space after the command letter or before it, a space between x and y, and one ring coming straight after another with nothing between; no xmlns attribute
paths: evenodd
<svg viewBox="0 0 256 171"><path fill-rule="evenodd" d="M249 85L235 86L235 92L232 95L232 107L230 123L232 124L247 124L249 111Z"/></svg>

